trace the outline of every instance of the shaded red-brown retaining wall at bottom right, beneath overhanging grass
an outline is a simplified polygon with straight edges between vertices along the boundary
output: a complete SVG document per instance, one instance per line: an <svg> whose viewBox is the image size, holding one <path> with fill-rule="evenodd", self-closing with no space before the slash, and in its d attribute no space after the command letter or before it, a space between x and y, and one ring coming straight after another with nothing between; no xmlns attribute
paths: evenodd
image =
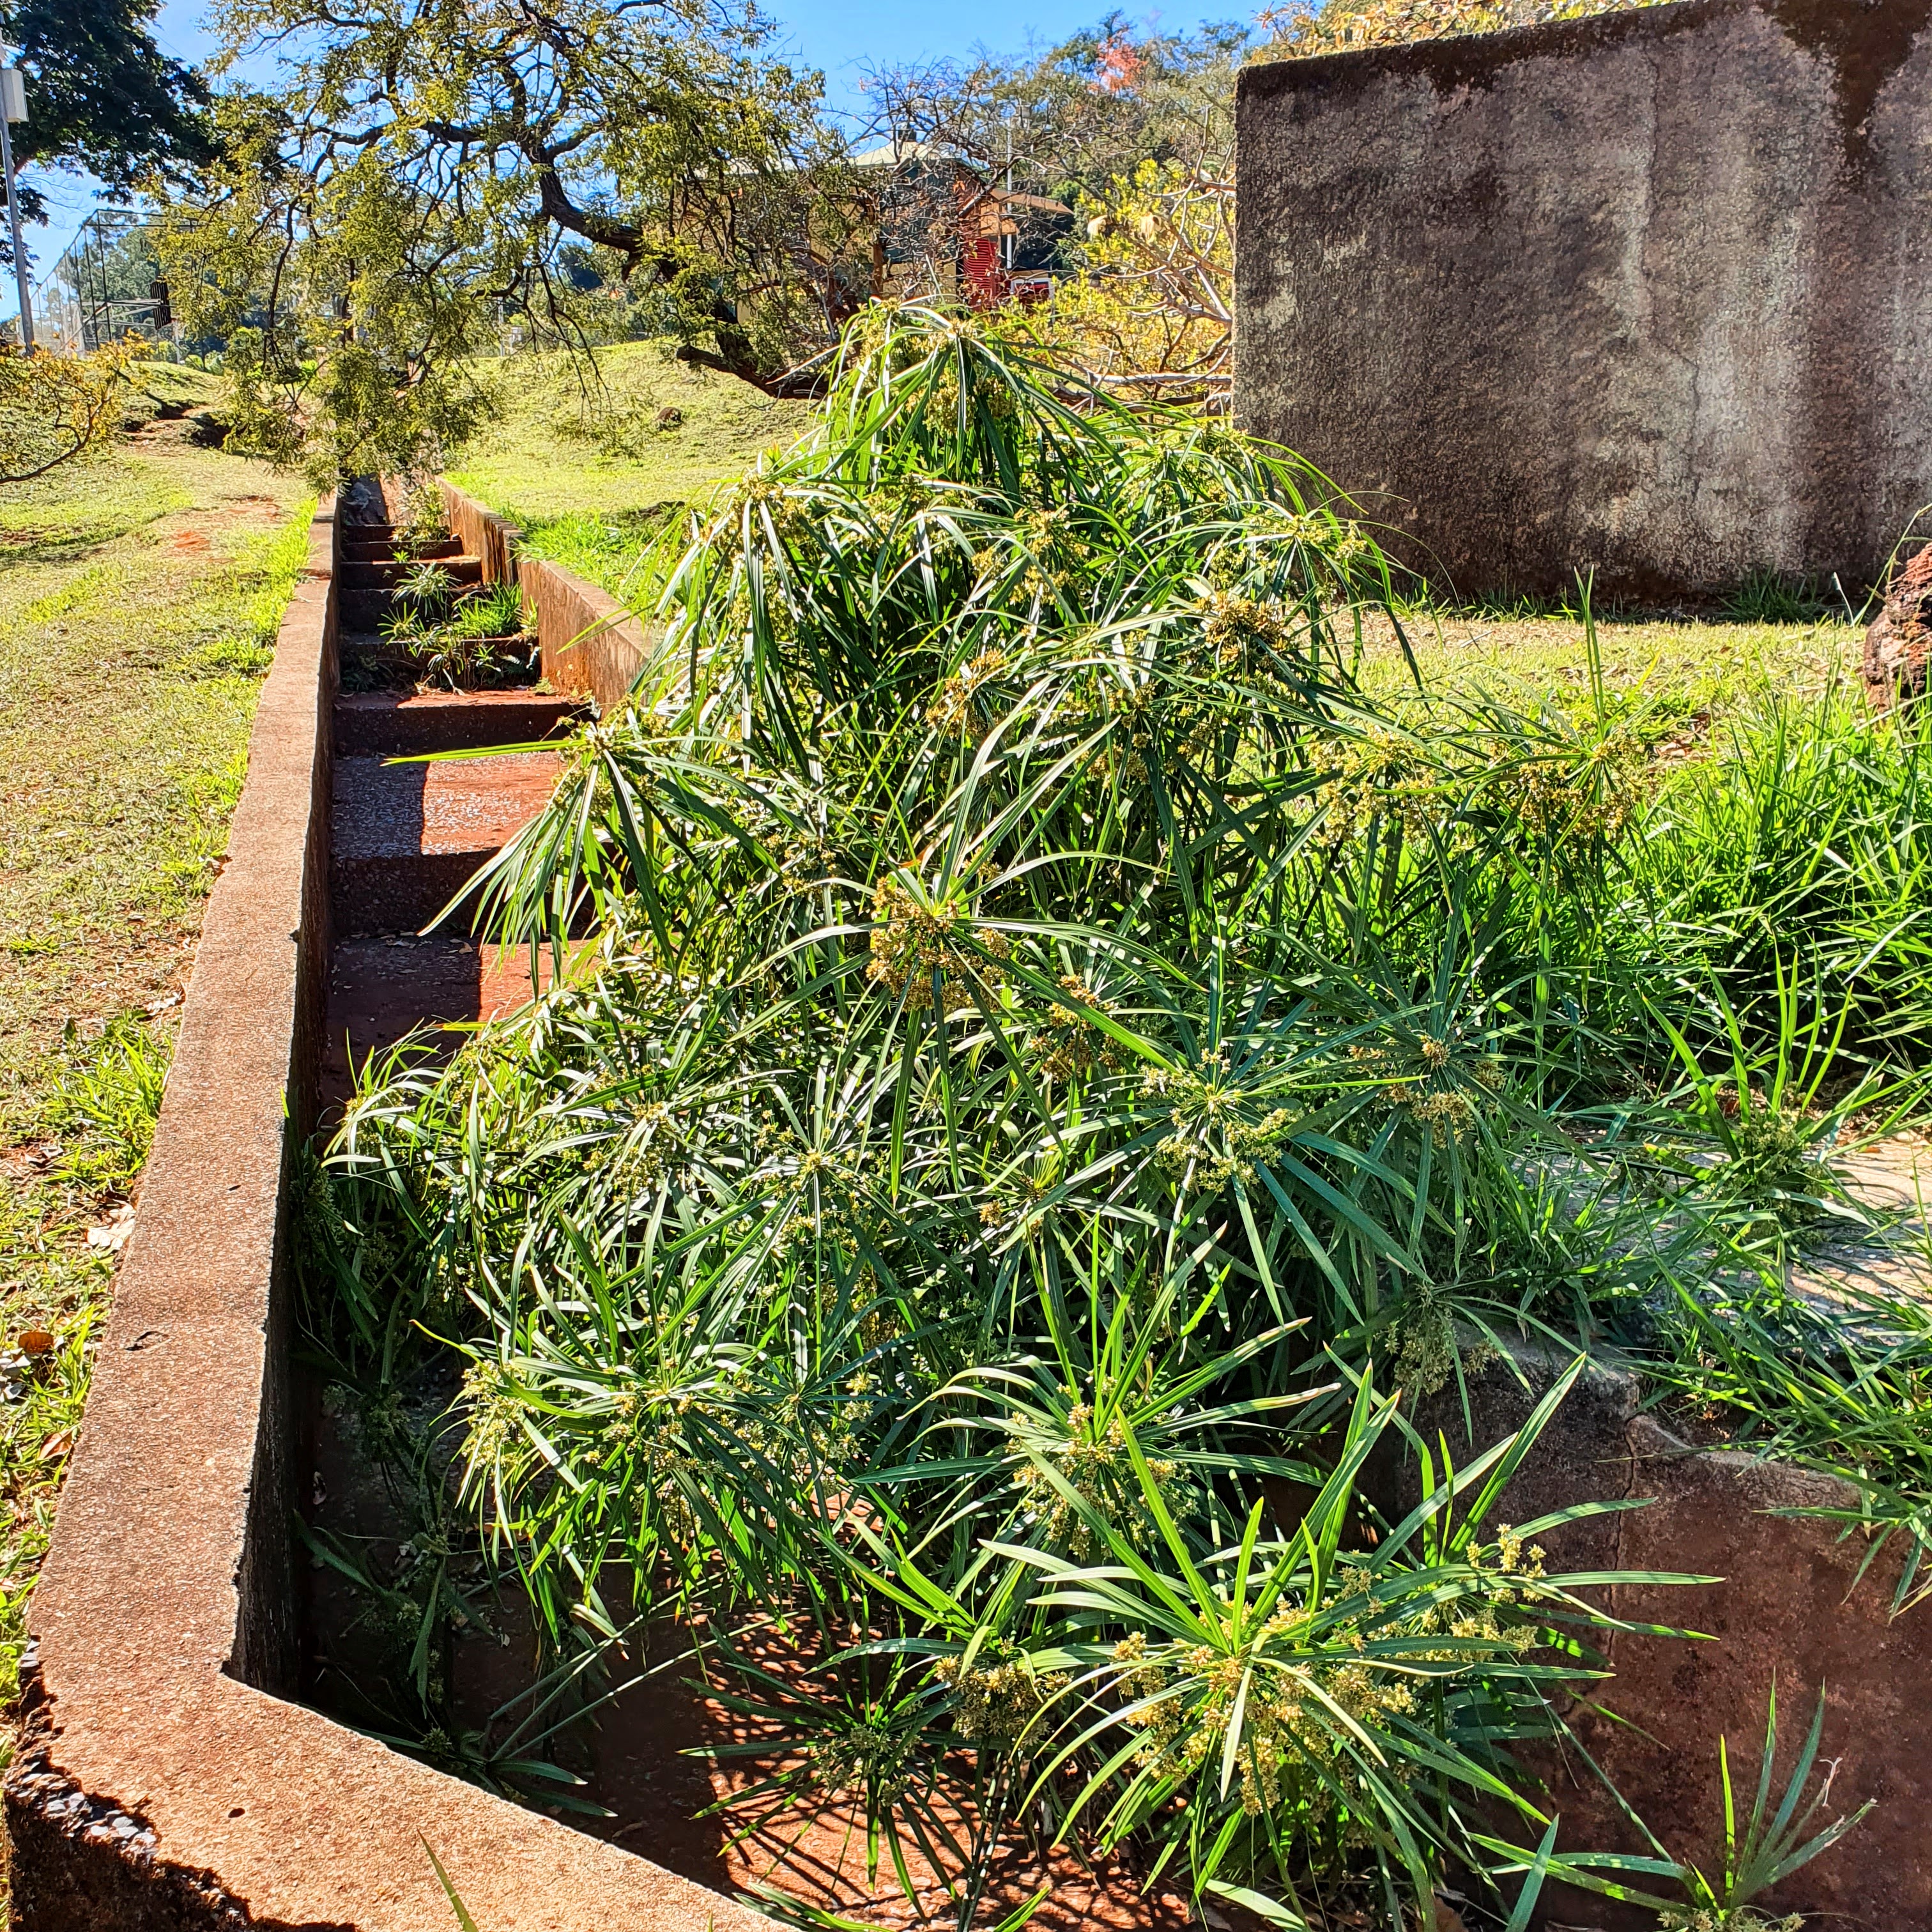
<svg viewBox="0 0 1932 1932"><path fill-rule="evenodd" d="M1495 1364L1470 1389L1474 1428L1449 1387L1416 1420L1439 1430L1457 1461L1520 1428L1557 1372L1553 1358L1519 1356L1528 1387ZM1393 1503L1416 1501L1412 1474ZM1766 1911L1843 1915L1872 1932L1932 1924L1932 1605L1891 1617L1903 1546L1893 1542L1861 1577L1868 1544L1808 1509L1859 1507L1828 1476L1729 1451L1694 1449L1638 1412L1633 1376L1592 1368L1557 1410L1505 1490L1492 1520L1530 1522L1577 1501L1646 1497L1648 1507L1571 1524L1544 1538L1551 1571L1673 1571L1712 1575L1696 1588L1627 1586L1607 1607L1636 1625L1706 1633L1712 1642L1617 1633L1598 1638L1613 1679L1602 1704L1623 1721L1573 1710L1584 1747L1675 1857L1706 1872L1723 1866L1718 1739L1748 1808L1764 1745L1766 1698L1777 1687L1789 1768L1826 1692L1820 1772L1837 1762L1826 1816L1876 1810L1849 1837L1789 1878ZM1602 1783L1580 1762L1546 1762L1546 1808L1563 1814L1563 1851L1648 1853ZM1779 1791L1783 1787L1779 1785ZM1520 1828L1519 1828L1520 1830ZM1534 1835L1530 1841L1534 1843ZM1810 1835L1810 1833L1806 1833ZM1519 1837L1520 1843L1520 1837ZM1546 1920L1648 1932L1656 1915L1577 1891L1551 1895Z"/></svg>

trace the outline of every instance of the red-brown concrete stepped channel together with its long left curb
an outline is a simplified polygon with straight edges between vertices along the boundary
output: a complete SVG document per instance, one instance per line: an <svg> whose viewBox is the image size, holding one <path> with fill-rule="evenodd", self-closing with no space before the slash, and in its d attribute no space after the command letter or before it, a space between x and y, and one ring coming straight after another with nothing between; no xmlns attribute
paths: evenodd
<svg viewBox="0 0 1932 1932"><path fill-rule="evenodd" d="M6 1779L12 1922L31 1932L448 1932L437 1849L489 1932L750 1932L728 1897L299 1702L313 1414L294 1356L299 1150L350 1059L527 997L456 922L417 939L535 810L541 740L611 701L641 632L549 566L518 572L558 696L383 690L398 576L367 487L327 498L261 692L228 864L35 1592ZM458 578L514 531L448 493ZM357 688L359 686L359 688ZM462 1036L448 1036L450 1039Z"/></svg>

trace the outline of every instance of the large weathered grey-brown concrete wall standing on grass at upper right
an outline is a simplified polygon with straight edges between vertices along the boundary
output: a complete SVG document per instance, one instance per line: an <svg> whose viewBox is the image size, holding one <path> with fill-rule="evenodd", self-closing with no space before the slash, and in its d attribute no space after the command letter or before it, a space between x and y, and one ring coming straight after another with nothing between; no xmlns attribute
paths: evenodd
<svg viewBox="0 0 1932 1932"><path fill-rule="evenodd" d="M1238 419L1457 589L1864 587L1932 500L1932 0L1240 77Z"/></svg>

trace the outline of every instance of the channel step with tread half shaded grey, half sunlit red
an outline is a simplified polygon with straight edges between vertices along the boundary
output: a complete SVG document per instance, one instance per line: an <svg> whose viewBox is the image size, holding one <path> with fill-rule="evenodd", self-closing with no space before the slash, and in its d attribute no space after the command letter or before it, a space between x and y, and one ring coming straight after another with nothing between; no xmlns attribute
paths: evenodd
<svg viewBox="0 0 1932 1932"><path fill-rule="evenodd" d="M328 891L344 939L429 923L545 806L554 752L450 763L336 759Z"/></svg>

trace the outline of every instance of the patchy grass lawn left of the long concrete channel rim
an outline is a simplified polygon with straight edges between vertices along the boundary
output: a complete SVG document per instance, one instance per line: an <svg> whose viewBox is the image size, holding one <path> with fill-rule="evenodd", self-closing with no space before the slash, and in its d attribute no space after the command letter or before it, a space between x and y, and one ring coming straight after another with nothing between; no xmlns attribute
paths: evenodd
<svg viewBox="0 0 1932 1932"><path fill-rule="evenodd" d="M0 489L6 1704L301 512L172 423Z"/></svg>

